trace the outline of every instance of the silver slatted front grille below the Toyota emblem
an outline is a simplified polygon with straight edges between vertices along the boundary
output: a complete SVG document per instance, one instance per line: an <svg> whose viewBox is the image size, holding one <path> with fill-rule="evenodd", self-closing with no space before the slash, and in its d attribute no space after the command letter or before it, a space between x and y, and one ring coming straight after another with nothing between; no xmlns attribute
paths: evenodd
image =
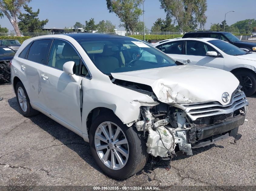
<svg viewBox="0 0 256 191"><path fill-rule="evenodd" d="M185 113L192 121L198 118L215 116L220 114L233 113L244 106L248 106L248 100L243 91L236 91L231 96L231 101L228 105L221 105L219 102L205 102L205 103L189 103L181 104L186 108Z"/></svg>

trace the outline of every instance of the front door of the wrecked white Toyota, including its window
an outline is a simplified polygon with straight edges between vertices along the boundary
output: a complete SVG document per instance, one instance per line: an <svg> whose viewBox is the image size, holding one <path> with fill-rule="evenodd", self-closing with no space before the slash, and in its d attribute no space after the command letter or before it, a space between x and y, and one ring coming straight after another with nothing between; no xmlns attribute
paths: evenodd
<svg viewBox="0 0 256 191"><path fill-rule="evenodd" d="M47 101L47 111L56 118L82 131L80 91L82 77L72 81L63 72L65 62L74 61L76 74L79 73L80 56L71 44L63 40L54 40L49 53L48 68L42 71L42 89Z"/></svg>

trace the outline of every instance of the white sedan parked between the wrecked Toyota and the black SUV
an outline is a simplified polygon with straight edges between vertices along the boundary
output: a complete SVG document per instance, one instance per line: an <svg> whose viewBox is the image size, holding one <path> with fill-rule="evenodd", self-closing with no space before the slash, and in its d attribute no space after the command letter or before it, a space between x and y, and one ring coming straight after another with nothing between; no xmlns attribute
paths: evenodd
<svg viewBox="0 0 256 191"><path fill-rule="evenodd" d="M174 39L161 43L156 48L180 62L232 72L247 96L256 91L255 53L214 38Z"/></svg>

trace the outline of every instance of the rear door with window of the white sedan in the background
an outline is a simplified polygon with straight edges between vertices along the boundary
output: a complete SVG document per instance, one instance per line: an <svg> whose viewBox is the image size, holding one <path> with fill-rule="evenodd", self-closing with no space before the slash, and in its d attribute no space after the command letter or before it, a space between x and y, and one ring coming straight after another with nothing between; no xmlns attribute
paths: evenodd
<svg viewBox="0 0 256 191"><path fill-rule="evenodd" d="M171 58L183 62L184 40L164 43L162 45L157 46L156 48L163 51Z"/></svg>

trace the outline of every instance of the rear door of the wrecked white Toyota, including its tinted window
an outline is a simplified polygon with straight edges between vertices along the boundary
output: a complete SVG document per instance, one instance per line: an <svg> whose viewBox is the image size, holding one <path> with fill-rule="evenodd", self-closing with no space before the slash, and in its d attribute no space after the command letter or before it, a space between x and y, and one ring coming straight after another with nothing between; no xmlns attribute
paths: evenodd
<svg viewBox="0 0 256 191"><path fill-rule="evenodd" d="M30 102L43 110L47 109L47 104L42 92L41 71L46 67L51 43L52 39L35 40L19 55L19 73Z"/></svg>

